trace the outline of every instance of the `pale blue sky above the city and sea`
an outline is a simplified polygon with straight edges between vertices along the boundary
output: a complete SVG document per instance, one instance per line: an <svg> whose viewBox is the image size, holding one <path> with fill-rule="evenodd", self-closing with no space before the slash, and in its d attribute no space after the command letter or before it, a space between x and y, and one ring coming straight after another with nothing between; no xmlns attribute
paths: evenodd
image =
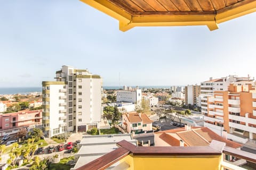
<svg viewBox="0 0 256 170"><path fill-rule="evenodd" d="M62 65L89 69L103 86L199 84L256 77L256 13L206 26L135 27L78 0L0 3L0 88L41 87ZM120 81L119 81L120 80Z"/></svg>

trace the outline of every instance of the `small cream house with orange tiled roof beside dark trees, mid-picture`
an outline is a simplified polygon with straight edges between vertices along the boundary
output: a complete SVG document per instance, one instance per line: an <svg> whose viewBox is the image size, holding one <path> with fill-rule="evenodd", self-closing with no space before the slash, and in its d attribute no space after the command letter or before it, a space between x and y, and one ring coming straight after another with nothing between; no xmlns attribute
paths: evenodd
<svg viewBox="0 0 256 170"><path fill-rule="evenodd" d="M122 116L122 128L128 133L152 130L154 121L144 113L128 112Z"/></svg>

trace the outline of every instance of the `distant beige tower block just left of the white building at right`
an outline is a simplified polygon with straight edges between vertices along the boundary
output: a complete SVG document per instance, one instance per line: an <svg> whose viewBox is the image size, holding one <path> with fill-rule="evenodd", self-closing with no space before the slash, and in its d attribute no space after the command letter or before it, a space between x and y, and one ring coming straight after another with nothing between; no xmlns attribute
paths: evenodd
<svg viewBox="0 0 256 170"><path fill-rule="evenodd" d="M185 87L185 104L197 105L197 98L200 95L200 86L188 85Z"/></svg>

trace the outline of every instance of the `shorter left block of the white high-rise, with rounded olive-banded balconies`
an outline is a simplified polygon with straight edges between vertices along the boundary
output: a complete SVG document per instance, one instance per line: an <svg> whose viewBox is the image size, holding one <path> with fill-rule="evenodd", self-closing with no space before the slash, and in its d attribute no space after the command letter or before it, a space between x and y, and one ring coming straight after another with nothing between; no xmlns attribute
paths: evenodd
<svg viewBox="0 0 256 170"><path fill-rule="evenodd" d="M66 132L66 84L43 81L43 132L47 137Z"/></svg>

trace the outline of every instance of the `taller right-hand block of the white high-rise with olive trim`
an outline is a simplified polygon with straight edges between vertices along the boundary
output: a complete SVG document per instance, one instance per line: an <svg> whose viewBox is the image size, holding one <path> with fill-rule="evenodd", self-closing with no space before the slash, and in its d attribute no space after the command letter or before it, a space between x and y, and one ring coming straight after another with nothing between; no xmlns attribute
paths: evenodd
<svg viewBox="0 0 256 170"><path fill-rule="evenodd" d="M66 125L68 132L83 132L98 128L101 121L102 79L87 69L62 66L56 72L57 82L65 83ZM51 93L51 89L50 89ZM43 91L44 94L44 91ZM59 100L58 96L52 100ZM64 105L64 104L63 104ZM56 105L50 105L50 112ZM50 116L51 119L51 116Z"/></svg>

